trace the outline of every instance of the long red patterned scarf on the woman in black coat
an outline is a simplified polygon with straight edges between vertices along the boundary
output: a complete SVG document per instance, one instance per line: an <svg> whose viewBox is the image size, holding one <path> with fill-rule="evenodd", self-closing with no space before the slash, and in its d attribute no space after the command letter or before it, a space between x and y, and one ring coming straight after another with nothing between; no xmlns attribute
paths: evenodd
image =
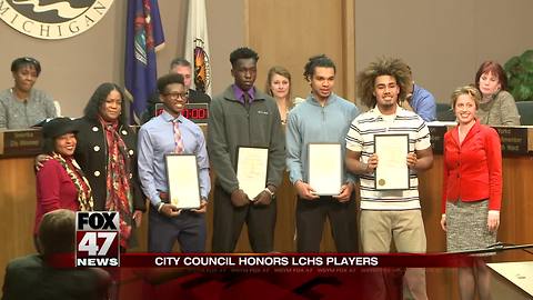
<svg viewBox="0 0 533 300"><path fill-rule="evenodd" d="M108 177L105 209L120 216L120 246L128 248L133 223L133 196L130 189L130 157L124 141L117 132L119 122L100 119L108 142Z"/></svg>

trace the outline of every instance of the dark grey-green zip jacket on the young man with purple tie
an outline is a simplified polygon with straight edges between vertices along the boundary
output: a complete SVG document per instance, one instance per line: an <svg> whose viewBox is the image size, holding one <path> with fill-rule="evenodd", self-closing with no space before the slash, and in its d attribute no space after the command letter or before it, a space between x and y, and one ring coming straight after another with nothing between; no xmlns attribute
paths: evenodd
<svg viewBox="0 0 533 300"><path fill-rule="evenodd" d="M269 148L266 184L280 187L285 169L285 137L274 99L255 89L255 99L247 110L230 86L211 101L208 123L209 158L222 189L231 193L239 188L239 146Z"/></svg>

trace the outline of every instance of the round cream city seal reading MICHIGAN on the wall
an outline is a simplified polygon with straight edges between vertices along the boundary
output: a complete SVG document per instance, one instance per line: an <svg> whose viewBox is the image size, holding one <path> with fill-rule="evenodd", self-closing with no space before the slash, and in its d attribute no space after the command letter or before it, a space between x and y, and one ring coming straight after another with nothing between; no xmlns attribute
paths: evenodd
<svg viewBox="0 0 533 300"><path fill-rule="evenodd" d="M100 21L113 0L0 0L0 19L27 36L59 40Z"/></svg>

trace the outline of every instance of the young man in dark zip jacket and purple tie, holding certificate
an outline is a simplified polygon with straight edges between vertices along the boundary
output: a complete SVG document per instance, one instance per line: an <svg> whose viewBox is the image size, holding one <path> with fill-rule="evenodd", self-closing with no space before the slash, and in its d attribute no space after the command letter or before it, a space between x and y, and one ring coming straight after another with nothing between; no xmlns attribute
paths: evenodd
<svg viewBox="0 0 533 300"><path fill-rule="evenodd" d="M213 170L213 252L233 252L244 222L254 252L274 243L275 189L281 184L285 139L275 101L257 89L258 53L231 52L234 84L210 106L208 149Z"/></svg>

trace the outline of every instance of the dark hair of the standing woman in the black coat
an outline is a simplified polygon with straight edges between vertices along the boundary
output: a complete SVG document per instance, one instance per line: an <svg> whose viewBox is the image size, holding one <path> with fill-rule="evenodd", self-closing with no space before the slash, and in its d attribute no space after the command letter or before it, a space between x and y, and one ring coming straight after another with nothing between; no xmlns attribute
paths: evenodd
<svg viewBox="0 0 533 300"><path fill-rule="evenodd" d="M97 121L98 116L100 116L100 108L102 107L102 103L105 102L105 99L108 98L111 91L118 91L120 93L120 98L122 99L119 123L128 124L128 121L125 119L125 116L127 116L125 103L123 102L125 101L124 92L119 86L111 82L104 82L98 86L98 88L94 90L91 98L89 99L89 102L87 103L86 109L83 110L83 118Z"/></svg>

